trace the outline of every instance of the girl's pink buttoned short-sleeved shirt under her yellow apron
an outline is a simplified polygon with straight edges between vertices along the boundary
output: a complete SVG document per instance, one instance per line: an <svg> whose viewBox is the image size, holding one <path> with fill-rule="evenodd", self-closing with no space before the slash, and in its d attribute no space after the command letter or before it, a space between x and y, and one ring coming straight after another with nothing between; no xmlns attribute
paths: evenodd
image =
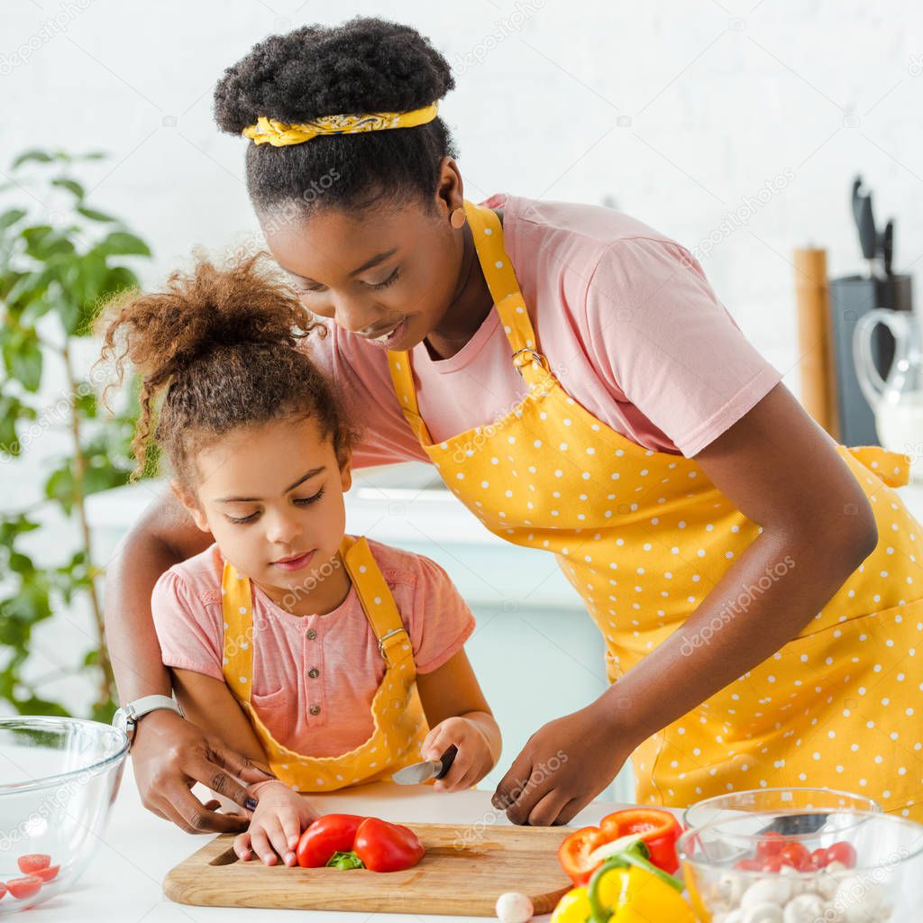
<svg viewBox="0 0 923 923"><path fill-rule="evenodd" d="M433 672L471 636L471 610L428 557L368 545L410 634L417 673ZM223 679L223 563L211 545L157 581L151 608L164 665ZM355 587L326 615L294 616L253 585L253 627L251 703L272 737L318 757L339 756L371 737L372 699L385 662ZM312 705L318 714L310 713Z"/></svg>

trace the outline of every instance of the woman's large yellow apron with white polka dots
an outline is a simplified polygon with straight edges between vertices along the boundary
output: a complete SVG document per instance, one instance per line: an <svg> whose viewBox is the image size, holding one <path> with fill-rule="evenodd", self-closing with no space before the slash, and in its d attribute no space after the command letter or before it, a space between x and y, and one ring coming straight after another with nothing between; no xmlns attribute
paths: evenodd
<svg viewBox="0 0 923 923"><path fill-rule="evenodd" d="M557 556L603 633L617 682L689 618L760 527L694 460L637 445L569 397L540 352L497 216L470 202L465 211L529 390L496 423L434 444L409 354L390 354L394 388L443 480L486 528ZM875 510L878 547L782 650L641 744L632 755L640 803L683 807L734 790L824 785L923 821L914 712L923 712L923 547L893 490L906 483L908 459L876 447L838 451ZM776 565L730 611L745 611L748 593L784 581L793 566Z"/></svg>

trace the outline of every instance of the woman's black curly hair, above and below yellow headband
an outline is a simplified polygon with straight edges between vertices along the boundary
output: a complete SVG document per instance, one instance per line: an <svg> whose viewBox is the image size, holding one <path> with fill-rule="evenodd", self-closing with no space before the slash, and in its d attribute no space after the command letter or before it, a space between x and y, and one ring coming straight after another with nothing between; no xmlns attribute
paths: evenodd
<svg viewBox="0 0 923 923"><path fill-rule="evenodd" d="M406 112L441 100L449 62L418 31L356 17L272 35L229 67L214 94L215 121L240 136L260 115L306 122L322 115ZM246 184L261 217L294 202L364 209L435 196L440 160L457 156L437 118L394 131L313 138L275 148L248 144Z"/></svg>

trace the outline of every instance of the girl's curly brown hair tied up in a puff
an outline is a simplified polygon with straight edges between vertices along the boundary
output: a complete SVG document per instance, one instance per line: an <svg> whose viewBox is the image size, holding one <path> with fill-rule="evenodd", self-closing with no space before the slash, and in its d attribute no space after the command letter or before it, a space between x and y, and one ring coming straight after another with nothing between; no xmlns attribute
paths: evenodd
<svg viewBox="0 0 923 923"><path fill-rule="evenodd" d="M196 452L240 426L313 417L337 457L348 455L352 431L299 348L312 330L326 330L264 260L238 258L220 270L198 258L191 273L172 273L162 292L122 294L96 318L100 362L114 362L115 385L129 365L141 378L132 480L144 471L155 417L153 438L190 489Z"/></svg>

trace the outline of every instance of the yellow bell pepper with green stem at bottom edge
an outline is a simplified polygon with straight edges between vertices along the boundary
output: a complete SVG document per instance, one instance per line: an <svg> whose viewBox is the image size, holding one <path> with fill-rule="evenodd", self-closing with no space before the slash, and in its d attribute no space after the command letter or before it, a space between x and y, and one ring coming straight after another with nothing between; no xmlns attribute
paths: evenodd
<svg viewBox="0 0 923 923"><path fill-rule="evenodd" d="M586 888L558 902L551 923L695 923L683 885L633 845L606 859Z"/></svg>

